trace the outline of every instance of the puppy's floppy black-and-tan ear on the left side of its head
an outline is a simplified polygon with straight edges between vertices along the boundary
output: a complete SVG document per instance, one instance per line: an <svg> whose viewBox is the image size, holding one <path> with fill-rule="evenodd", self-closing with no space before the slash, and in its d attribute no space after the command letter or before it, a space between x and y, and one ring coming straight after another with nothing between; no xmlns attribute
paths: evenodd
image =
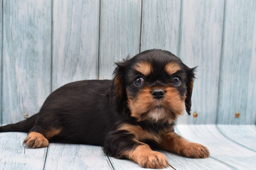
<svg viewBox="0 0 256 170"><path fill-rule="evenodd" d="M115 62L116 68L113 72L113 85L115 101L119 104L124 96L125 90L125 70L130 65L129 55L122 62Z"/></svg>

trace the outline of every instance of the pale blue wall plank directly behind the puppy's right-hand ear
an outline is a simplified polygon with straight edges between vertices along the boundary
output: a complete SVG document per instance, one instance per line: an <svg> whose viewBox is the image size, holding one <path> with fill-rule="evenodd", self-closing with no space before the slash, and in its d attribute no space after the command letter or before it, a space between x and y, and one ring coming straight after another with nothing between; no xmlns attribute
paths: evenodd
<svg viewBox="0 0 256 170"><path fill-rule="evenodd" d="M188 67L198 66L191 113L179 124L215 124L222 44L224 1L184 0L182 8L180 58Z"/></svg>

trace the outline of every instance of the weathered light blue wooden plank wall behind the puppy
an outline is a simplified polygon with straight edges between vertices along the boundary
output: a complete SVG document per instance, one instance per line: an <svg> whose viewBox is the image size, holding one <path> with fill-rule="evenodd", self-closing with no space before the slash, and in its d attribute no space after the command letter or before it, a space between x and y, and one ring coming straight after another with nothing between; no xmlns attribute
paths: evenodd
<svg viewBox="0 0 256 170"><path fill-rule="evenodd" d="M0 2L3 124L37 113L63 84L110 79L114 61L151 48L198 65L198 116L184 114L179 124L256 122L253 0Z"/></svg>

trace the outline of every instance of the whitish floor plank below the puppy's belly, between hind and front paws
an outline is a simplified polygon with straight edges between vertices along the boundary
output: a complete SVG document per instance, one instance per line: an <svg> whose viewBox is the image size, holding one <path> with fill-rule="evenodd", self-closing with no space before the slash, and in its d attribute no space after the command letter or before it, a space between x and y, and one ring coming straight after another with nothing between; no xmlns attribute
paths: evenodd
<svg viewBox="0 0 256 170"><path fill-rule="evenodd" d="M50 143L45 162L49 169L113 169L102 147L82 144Z"/></svg>

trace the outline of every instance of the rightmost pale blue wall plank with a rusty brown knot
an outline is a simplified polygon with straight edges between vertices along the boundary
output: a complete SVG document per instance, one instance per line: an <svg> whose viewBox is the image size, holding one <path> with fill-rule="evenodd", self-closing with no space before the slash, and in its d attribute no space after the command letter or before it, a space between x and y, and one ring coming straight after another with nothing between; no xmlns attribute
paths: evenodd
<svg viewBox="0 0 256 170"><path fill-rule="evenodd" d="M255 124L256 1L227 0L225 13L217 123Z"/></svg>

